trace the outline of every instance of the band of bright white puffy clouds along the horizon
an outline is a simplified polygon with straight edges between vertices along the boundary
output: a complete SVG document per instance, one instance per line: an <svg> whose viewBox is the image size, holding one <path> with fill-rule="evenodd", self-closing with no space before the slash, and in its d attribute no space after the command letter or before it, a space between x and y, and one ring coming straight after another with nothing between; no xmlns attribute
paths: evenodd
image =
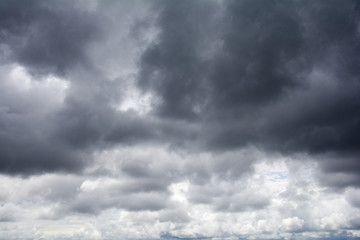
<svg viewBox="0 0 360 240"><path fill-rule="evenodd" d="M128 147L103 153L106 168L115 165L118 169L119 174L113 176L0 176L4 183L0 211L7 221L1 231L11 234L17 229L13 223L24 226L16 231L28 231L26 226L31 221L37 230L28 234L47 239L158 238L166 232L179 237L249 239L288 238L287 233L292 233L301 238L312 231L325 236L353 228L354 219L360 216L357 189L349 189L344 195L319 186L313 173L307 172L311 162L293 159L288 165L282 157L260 161L252 174L235 179L218 178L213 169L213 177L206 177L209 182L199 184L192 181L191 173L182 170L186 165L179 164L176 153L163 149ZM128 158L119 160L124 151ZM182 161L190 162L203 157L195 153L181 156ZM121 173L124 162L130 160L138 163L136 166L146 163L143 167L147 174ZM172 171L173 162L179 165L171 180L165 172ZM162 190L139 187L154 181L155 176L165 184ZM129 188L131 184L134 187ZM58 221L60 227L55 229L52 221Z"/></svg>

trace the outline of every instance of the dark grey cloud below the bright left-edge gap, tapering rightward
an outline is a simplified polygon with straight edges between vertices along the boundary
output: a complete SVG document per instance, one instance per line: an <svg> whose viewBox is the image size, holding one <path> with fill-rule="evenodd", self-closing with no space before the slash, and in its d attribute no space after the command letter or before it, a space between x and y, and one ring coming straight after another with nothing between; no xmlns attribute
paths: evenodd
<svg viewBox="0 0 360 240"><path fill-rule="evenodd" d="M116 112L106 102L68 96L63 105L48 107L41 103L46 96L31 102L36 92L24 94L20 100L17 96L21 93L14 91L10 96L4 91L14 89L4 89L0 90L0 99L7 103L0 111L3 173L78 172L91 163L93 150L148 141L157 137L157 132L161 136L161 130L152 129L159 124ZM96 93L88 91L95 97Z"/></svg>

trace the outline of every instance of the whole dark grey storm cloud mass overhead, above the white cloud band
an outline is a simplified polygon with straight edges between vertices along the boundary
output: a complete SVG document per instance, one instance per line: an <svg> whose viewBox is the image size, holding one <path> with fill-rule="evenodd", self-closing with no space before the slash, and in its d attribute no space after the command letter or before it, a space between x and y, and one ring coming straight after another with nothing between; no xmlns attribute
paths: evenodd
<svg viewBox="0 0 360 240"><path fill-rule="evenodd" d="M329 174L359 171L357 2L155 2L159 33L142 53L137 75L138 87L159 100L146 116L115 110L124 79L109 79L106 68L96 67L102 60L91 55L113 36L110 19L126 12L105 5L89 10L70 1L1 2L3 63L41 73L36 79L61 75L69 83L61 106L41 114L35 110L46 97L36 103L26 103L31 96L17 100L21 93L2 97L2 172L80 171L94 151L144 142L211 153L254 145L316 155L327 185L335 184L326 181ZM124 32L141 35L134 39L141 42L151 26L136 23ZM106 49L119 47L107 43ZM199 183L214 172L236 179L254 162L219 159L182 174ZM146 177L141 166L122 167L129 176ZM358 185L351 179L340 185Z"/></svg>

